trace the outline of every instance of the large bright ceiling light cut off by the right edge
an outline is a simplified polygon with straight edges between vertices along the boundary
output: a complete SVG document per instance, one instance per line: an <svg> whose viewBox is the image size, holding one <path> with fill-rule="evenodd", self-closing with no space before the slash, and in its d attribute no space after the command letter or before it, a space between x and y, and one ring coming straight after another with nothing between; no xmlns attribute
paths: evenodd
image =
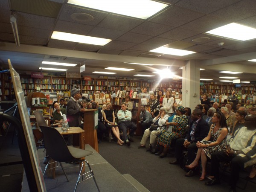
<svg viewBox="0 0 256 192"><path fill-rule="evenodd" d="M230 23L211 31L207 31L206 33L212 35L218 35L221 37L227 37L232 39L237 39L241 41L246 41L249 39L256 38L256 29L244 25L240 25L237 23Z"/></svg>

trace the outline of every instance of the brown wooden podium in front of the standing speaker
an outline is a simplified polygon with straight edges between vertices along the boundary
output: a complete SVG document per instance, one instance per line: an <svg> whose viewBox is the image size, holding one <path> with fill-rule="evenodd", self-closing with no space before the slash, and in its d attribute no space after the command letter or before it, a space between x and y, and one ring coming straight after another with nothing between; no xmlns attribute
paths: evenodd
<svg viewBox="0 0 256 192"><path fill-rule="evenodd" d="M95 111L98 109L87 109L84 112L85 144L91 145L99 153L97 130L95 129L98 118L95 117Z"/></svg>

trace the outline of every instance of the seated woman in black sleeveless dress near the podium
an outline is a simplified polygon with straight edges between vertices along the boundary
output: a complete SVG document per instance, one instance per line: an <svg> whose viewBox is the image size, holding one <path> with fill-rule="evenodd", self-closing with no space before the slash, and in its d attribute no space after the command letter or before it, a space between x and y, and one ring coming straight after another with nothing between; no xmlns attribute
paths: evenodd
<svg viewBox="0 0 256 192"><path fill-rule="evenodd" d="M102 107L103 110L103 107ZM117 144L122 145L124 142L120 139L120 133L118 126L115 121L115 114L113 109L111 109L111 103L106 104L106 108L103 110L103 118L105 120L105 126L110 130L110 139L111 139L111 130L113 131L114 136L117 139ZM113 139L113 138L112 138ZM111 140L110 140L111 141Z"/></svg>

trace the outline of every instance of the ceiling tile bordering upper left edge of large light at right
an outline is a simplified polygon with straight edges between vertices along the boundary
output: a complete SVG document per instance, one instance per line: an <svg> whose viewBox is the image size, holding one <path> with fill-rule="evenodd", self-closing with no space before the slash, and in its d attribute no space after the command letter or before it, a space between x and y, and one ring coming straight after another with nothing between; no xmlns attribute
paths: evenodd
<svg viewBox="0 0 256 192"><path fill-rule="evenodd" d="M209 30L215 29L220 26L224 26L228 24L228 21L221 20L218 17L212 17L206 15L204 17L200 17L196 20L193 20L185 25L181 26L182 29L189 29L197 32L207 32Z"/></svg>

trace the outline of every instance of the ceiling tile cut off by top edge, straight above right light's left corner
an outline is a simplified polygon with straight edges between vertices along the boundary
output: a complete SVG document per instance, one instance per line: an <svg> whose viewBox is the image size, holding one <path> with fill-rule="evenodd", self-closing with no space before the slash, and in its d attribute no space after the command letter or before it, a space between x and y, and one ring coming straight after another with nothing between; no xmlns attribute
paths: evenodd
<svg viewBox="0 0 256 192"><path fill-rule="evenodd" d="M180 0L175 4L175 6L180 6L186 9L193 10L195 12L201 12L204 14L209 14L211 12L217 11L223 7L229 6L239 0L214 0L214 1L202 1L202 0Z"/></svg>

